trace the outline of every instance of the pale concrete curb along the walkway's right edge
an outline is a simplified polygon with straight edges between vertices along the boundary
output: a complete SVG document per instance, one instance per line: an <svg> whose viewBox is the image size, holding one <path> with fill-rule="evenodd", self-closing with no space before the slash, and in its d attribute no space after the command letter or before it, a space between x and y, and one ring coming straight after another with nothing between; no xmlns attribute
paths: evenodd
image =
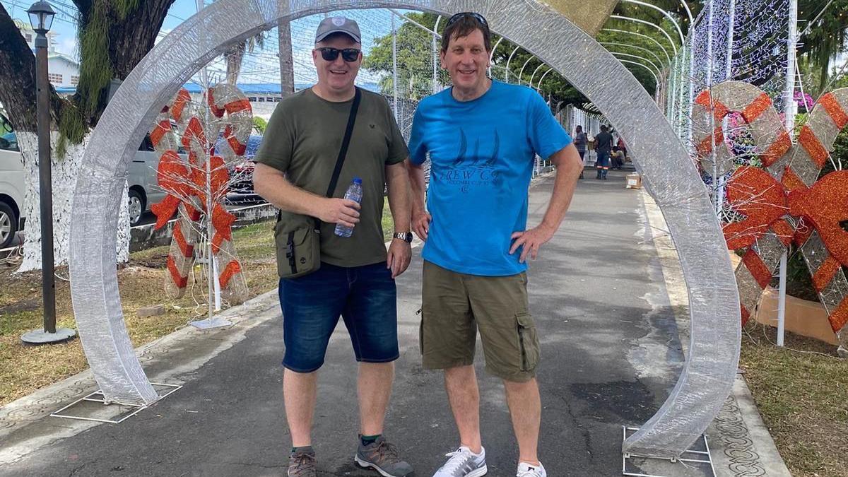
<svg viewBox="0 0 848 477"><path fill-rule="evenodd" d="M666 221L654 199L642 190L644 210L660 258L668 299L672 304L685 354L689 349L689 295L677 249ZM754 399L741 373L737 373L733 393L722 411L706 430L717 477L769 475L791 477L783 457L762 422Z"/></svg>

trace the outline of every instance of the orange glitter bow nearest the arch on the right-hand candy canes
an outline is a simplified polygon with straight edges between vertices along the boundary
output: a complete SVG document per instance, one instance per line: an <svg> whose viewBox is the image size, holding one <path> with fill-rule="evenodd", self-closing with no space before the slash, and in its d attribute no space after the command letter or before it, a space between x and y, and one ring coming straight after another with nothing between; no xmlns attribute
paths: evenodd
<svg viewBox="0 0 848 477"><path fill-rule="evenodd" d="M754 244L756 239L767 232L768 227L786 214L783 186L762 169L739 167L730 177L727 190L730 206L746 216L743 221L722 227L730 250L744 249ZM790 231L779 230L778 234L791 237Z"/></svg>

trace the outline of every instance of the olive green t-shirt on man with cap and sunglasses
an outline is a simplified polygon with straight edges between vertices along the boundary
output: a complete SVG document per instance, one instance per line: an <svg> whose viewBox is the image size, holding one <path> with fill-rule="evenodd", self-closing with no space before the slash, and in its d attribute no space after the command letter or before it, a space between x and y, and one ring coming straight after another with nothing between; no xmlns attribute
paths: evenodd
<svg viewBox="0 0 848 477"><path fill-rule="evenodd" d="M323 196L342 147L353 99L333 103L311 88L282 99L265 128L255 160L285 172L298 188ZM386 166L406 159L408 150L386 98L362 90L348 154L333 197L344 197L354 177L362 179L360 222L349 238L335 234L336 224L321 223L321 261L361 267L386 261L382 236ZM282 211L283 221L303 220Z"/></svg>

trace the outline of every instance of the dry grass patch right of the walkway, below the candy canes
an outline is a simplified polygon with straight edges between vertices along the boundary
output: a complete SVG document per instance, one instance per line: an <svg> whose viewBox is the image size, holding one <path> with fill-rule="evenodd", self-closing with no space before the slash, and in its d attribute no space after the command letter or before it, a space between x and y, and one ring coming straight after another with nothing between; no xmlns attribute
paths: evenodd
<svg viewBox="0 0 848 477"><path fill-rule="evenodd" d="M780 455L796 477L848 476L848 360L832 345L745 327L739 366Z"/></svg>

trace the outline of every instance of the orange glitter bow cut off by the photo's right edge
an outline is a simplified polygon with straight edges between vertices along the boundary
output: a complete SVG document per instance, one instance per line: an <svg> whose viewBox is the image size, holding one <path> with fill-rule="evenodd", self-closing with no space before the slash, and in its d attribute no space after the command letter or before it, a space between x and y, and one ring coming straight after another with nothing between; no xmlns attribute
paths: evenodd
<svg viewBox="0 0 848 477"><path fill-rule="evenodd" d="M812 221L830 255L848 266L848 232L840 226L848 220L848 171L831 172L810 190L791 192L789 212Z"/></svg>

